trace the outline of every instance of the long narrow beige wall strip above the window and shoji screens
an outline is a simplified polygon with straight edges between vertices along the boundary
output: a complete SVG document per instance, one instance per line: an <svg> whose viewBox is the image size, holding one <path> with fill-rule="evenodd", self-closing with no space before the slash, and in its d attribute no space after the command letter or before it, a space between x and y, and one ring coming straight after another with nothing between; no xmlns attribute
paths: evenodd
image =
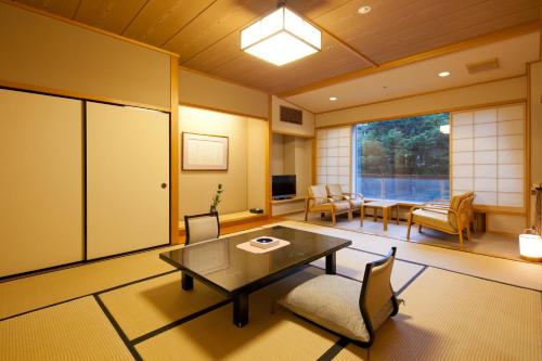
<svg viewBox="0 0 542 361"><path fill-rule="evenodd" d="M425 95L392 100L389 102L362 105L348 109L321 113L315 116L315 125L317 127L327 127L410 114L457 109L525 98L527 98L527 78L519 77Z"/></svg>

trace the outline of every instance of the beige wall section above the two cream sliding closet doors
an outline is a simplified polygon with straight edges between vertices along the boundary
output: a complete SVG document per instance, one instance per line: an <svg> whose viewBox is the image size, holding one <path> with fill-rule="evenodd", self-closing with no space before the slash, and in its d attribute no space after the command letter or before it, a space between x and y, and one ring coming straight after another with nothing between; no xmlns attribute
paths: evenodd
<svg viewBox="0 0 542 361"><path fill-rule="evenodd" d="M169 107L169 54L7 3L0 49L0 81Z"/></svg>

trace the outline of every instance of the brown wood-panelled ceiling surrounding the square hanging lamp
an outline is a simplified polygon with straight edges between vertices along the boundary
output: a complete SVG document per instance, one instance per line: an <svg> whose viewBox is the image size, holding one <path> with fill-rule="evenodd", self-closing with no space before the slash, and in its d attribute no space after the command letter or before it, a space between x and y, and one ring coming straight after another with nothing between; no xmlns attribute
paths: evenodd
<svg viewBox="0 0 542 361"><path fill-rule="evenodd" d="M180 65L272 93L540 21L540 0L289 0L322 52L276 67L240 51L275 0L14 0L180 54ZM361 5L371 5L359 15Z"/></svg>

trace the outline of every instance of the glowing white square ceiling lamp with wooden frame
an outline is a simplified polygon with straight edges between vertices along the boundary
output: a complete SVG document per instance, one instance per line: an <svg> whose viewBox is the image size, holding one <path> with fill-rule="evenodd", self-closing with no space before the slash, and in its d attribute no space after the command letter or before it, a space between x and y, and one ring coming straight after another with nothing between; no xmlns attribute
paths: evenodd
<svg viewBox="0 0 542 361"><path fill-rule="evenodd" d="M281 7L241 30L241 50L281 66L322 49L322 33Z"/></svg>

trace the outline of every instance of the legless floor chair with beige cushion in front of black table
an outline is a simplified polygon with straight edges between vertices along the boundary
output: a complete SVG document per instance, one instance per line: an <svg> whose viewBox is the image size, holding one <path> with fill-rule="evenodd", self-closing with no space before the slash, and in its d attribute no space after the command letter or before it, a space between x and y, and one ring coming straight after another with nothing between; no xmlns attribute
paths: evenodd
<svg viewBox="0 0 542 361"><path fill-rule="evenodd" d="M392 247L385 258L367 263L363 283L322 274L298 285L278 302L324 328L369 347L380 325L399 311L390 283L396 250Z"/></svg>

